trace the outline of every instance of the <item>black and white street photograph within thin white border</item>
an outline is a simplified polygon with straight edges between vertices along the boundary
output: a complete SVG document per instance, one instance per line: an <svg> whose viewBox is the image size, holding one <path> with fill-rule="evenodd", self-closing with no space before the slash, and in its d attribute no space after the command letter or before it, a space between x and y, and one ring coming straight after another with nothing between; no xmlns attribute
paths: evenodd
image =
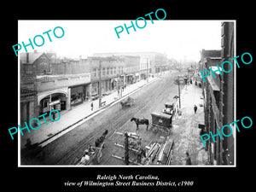
<svg viewBox="0 0 256 192"><path fill-rule="evenodd" d="M18 27L20 166L236 166L236 20Z"/></svg>

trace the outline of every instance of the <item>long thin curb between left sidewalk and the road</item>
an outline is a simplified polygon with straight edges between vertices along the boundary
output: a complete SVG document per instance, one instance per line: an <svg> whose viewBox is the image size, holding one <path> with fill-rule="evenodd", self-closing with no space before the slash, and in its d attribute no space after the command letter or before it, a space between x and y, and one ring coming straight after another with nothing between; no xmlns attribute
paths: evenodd
<svg viewBox="0 0 256 192"><path fill-rule="evenodd" d="M51 139L51 138L53 138L53 137L59 135L59 134L60 134L61 132L63 132L63 131L66 131L66 130L69 129L71 126L76 125L76 124L79 124L79 122L81 122L81 121L84 120L84 119L89 118L89 117L92 116L93 114L98 113L98 112L102 111L103 109L108 108L108 107L110 107L111 105L116 104L117 102L122 101L123 99L125 99L125 97L130 96L131 94L137 92L137 90L140 90L140 89L142 89L142 88L145 87L145 86L148 86L148 84L151 84L151 83L153 83L154 81L156 81L156 80L158 80L158 79L159 79L159 78L153 79L152 81L148 82L147 84L143 84L142 86L139 86L136 90L132 90L130 93L127 93L125 96L123 96L123 97L121 97L121 98L118 98L117 100L114 100L113 102L108 103L108 105L106 105L106 106L104 106L104 107L102 107L102 108L97 109L95 112L90 113L89 115L85 116L85 117L82 118L82 119L79 119L77 122L73 123L72 125L68 125L68 126L67 126L66 128L64 128L63 130L58 131L58 132L54 133L53 135L51 135L50 137L44 139L42 142L39 142L38 145L42 145L43 143L47 142L49 139ZM116 102L116 103L114 103L114 102Z"/></svg>

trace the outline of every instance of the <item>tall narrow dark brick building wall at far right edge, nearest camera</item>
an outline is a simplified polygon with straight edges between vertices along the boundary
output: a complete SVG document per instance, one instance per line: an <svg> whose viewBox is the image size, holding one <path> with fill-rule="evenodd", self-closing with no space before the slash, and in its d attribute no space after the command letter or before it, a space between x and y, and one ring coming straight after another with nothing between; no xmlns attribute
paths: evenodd
<svg viewBox="0 0 256 192"><path fill-rule="evenodd" d="M221 57L223 61L230 61L231 58L235 57L235 45L234 45L234 22L223 22L221 26ZM235 62L230 61L233 65L233 70L230 73L224 73L221 76L221 117L223 125L230 125L231 122L235 120L234 105L235 105ZM229 71L229 65L224 65L224 70ZM233 126L233 132L236 128ZM226 131L226 130L225 130ZM228 135L225 132L226 135ZM223 141L223 164L224 165L234 165L234 135L230 137L224 137Z"/></svg>

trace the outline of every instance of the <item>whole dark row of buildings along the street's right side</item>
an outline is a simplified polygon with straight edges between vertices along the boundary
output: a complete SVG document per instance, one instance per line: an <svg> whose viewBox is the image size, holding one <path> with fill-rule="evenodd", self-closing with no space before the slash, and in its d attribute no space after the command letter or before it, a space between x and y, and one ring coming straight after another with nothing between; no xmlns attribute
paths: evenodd
<svg viewBox="0 0 256 192"><path fill-rule="evenodd" d="M223 61L230 61L234 57L234 23L223 22L222 26L222 49L201 50L201 70L217 70ZM231 61L234 66L234 61ZM224 70L229 71L228 65L224 65ZM221 75L222 73L222 75ZM213 78L212 73L203 84L205 97L205 125L207 134L212 131L212 135L221 132L223 125L230 125L234 118L234 70L230 73L216 72ZM217 131L218 129L218 131ZM234 132L234 131L233 131ZM224 134L229 135L228 129L224 129ZM211 165L234 165L234 136L220 138L218 135L207 141L207 151Z"/></svg>

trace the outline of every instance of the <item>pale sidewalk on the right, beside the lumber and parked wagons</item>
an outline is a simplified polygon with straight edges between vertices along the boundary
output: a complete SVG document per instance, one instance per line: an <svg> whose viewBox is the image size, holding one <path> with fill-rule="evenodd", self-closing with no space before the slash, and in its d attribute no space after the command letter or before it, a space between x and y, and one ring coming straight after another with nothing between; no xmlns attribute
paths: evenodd
<svg viewBox="0 0 256 192"><path fill-rule="evenodd" d="M173 120L173 165L185 165L185 153L188 151L192 166L207 165L207 152L200 138L199 124L204 124L204 108L200 107L202 90L193 84L185 85L181 92L182 115ZM194 112L194 105L197 112Z"/></svg>

